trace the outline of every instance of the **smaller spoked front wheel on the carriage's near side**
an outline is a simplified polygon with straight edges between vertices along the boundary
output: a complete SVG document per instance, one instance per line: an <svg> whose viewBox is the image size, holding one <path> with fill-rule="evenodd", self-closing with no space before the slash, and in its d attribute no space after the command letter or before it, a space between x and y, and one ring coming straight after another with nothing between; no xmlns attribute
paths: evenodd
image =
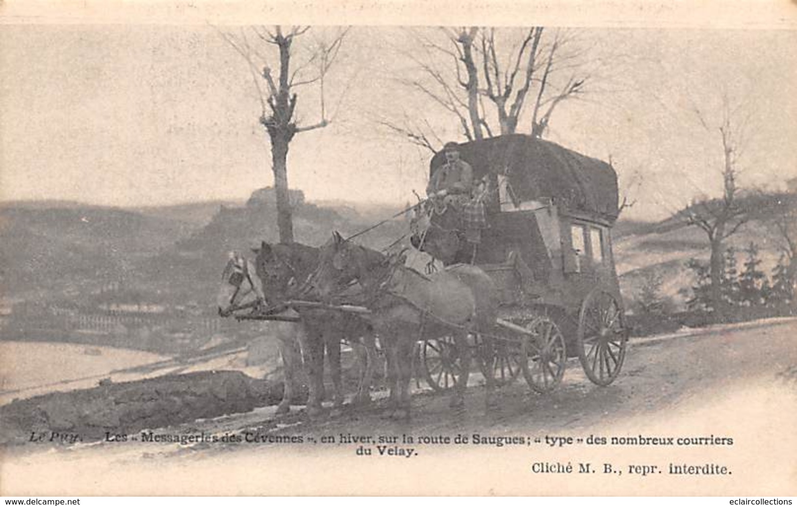
<svg viewBox="0 0 797 506"><path fill-rule="evenodd" d="M547 394L562 383L567 367L562 330L547 316L537 317L523 326L533 334L525 336L520 345L525 357L521 362L523 376L533 391Z"/></svg>

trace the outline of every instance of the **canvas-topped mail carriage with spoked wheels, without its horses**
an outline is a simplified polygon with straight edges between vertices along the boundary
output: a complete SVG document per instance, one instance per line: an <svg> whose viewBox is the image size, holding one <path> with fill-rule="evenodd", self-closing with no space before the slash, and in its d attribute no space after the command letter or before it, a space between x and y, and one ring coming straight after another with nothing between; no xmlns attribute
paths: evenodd
<svg viewBox="0 0 797 506"><path fill-rule="evenodd" d="M413 244L445 264L470 259L496 283L498 335L489 348L478 336L470 341L481 371L498 383L522 372L530 387L547 392L562 380L567 358L577 356L592 382L608 385L622 368L627 339L611 250L614 169L524 135L469 142L459 151L473 178L491 190L488 227L469 242L456 210L430 204L416 217L422 224ZM430 176L445 162L436 155ZM461 380L453 339L424 341L420 349L431 387Z"/></svg>

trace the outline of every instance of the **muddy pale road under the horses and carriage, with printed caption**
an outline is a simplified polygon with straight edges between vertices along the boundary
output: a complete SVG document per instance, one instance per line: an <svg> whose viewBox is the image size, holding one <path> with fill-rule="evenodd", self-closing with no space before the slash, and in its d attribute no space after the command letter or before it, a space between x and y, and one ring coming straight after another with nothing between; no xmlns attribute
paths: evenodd
<svg viewBox="0 0 797 506"><path fill-rule="evenodd" d="M384 419L377 404L313 422L300 413L276 420L262 409L154 431L226 442L143 442L128 434L127 442L55 450L31 443L6 454L0 482L20 495L45 493L42 487L76 494L797 493L795 321L635 341L609 387L590 383L576 360L551 395L532 393L521 379L493 407L484 387L470 387L466 402L465 411L452 411L446 395L416 395L408 422ZM229 441L236 434L241 441ZM642 437L673 439L669 446L632 439ZM673 474L671 465L699 475Z"/></svg>

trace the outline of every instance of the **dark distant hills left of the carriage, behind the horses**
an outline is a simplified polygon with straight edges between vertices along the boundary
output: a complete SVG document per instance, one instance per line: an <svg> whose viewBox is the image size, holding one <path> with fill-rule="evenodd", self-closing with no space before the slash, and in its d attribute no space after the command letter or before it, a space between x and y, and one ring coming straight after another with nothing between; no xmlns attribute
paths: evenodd
<svg viewBox="0 0 797 506"><path fill-rule="evenodd" d="M386 215L377 205L345 216L304 202L292 192L296 240L320 245L338 230L350 235ZM392 214L392 208L386 209ZM387 214L387 216L390 216ZM122 209L66 201L0 205L0 283L3 296L28 302L85 303L122 282L146 301L214 305L218 273L229 251L248 252L261 240L278 240L272 189L246 203L199 202ZM384 246L406 232L401 220L363 235Z"/></svg>

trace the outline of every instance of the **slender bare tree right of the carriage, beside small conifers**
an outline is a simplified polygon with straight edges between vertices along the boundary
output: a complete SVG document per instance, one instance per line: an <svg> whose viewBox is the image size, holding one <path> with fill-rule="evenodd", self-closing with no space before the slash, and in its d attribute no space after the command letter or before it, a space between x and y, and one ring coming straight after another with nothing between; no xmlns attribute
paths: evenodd
<svg viewBox="0 0 797 506"><path fill-rule="evenodd" d="M699 112L698 112L698 115ZM719 127L719 137L722 143L723 165L720 171L723 178L723 194L719 198L704 198L695 200L684 210L679 212L679 218L689 226L695 226L705 232L709 239L709 294L713 308L717 311L724 309L721 283L724 269L725 241L739 232L740 228L754 216L751 200L740 195L737 185L740 169L738 157L740 147L744 142L741 134L743 128L732 125L731 111L726 105L724 119ZM707 123L701 117L701 123L707 129Z"/></svg>

